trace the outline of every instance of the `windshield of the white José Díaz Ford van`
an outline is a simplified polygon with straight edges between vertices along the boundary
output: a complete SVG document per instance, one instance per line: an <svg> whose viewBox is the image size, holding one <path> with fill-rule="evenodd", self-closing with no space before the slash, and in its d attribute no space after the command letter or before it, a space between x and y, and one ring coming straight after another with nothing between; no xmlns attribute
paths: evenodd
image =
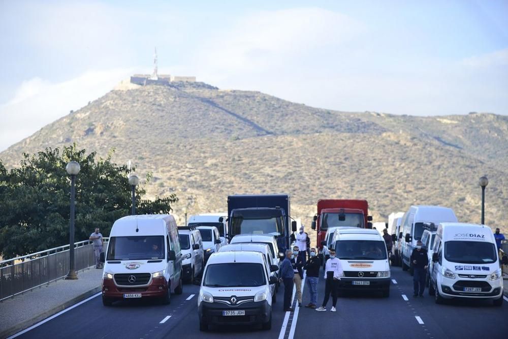
<svg viewBox="0 0 508 339"><path fill-rule="evenodd" d="M444 258L463 264L491 264L497 261L493 243L481 241L447 241Z"/></svg>

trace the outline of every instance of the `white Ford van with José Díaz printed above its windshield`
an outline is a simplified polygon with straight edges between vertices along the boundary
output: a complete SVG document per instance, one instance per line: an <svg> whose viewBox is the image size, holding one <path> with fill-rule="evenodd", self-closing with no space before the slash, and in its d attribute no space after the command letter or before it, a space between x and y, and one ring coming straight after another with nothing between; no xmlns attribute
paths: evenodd
<svg viewBox="0 0 508 339"><path fill-rule="evenodd" d="M504 256L503 264L508 263ZM429 294L436 303L451 298L492 299L503 303L503 278L490 227L441 223L432 254Z"/></svg>

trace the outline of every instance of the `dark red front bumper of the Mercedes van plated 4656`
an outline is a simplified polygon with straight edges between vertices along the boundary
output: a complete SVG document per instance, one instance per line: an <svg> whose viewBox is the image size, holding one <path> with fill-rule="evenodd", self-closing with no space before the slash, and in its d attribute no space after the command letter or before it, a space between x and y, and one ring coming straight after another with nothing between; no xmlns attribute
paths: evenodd
<svg viewBox="0 0 508 339"><path fill-rule="evenodd" d="M146 286L116 286L113 279L102 280L102 296L109 299L123 299L124 293L141 293L141 298L162 298L168 293L168 288L163 276L151 279Z"/></svg>

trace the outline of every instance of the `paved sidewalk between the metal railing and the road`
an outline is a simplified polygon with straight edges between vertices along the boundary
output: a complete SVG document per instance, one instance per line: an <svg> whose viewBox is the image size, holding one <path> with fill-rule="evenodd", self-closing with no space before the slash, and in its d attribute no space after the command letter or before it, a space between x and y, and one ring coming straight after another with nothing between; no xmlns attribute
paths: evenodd
<svg viewBox="0 0 508 339"><path fill-rule="evenodd" d="M102 269L78 272L78 280L58 280L0 302L0 338L8 337L101 291Z"/></svg>

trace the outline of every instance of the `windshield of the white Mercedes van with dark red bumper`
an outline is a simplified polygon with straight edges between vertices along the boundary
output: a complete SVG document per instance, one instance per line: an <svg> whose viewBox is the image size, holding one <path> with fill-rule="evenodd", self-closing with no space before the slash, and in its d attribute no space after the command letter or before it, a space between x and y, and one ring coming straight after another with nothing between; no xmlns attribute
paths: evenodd
<svg viewBox="0 0 508 339"><path fill-rule="evenodd" d="M164 236L111 237L106 260L164 259Z"/></svg>

